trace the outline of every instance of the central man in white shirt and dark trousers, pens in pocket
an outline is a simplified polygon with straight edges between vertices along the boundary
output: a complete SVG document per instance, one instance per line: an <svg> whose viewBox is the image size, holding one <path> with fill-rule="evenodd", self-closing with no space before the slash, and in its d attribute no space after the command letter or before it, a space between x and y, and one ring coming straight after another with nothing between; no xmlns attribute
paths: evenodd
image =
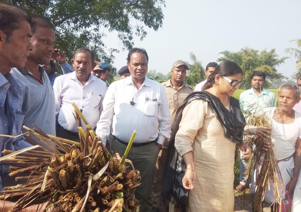
<svg viewBox="0 0 301 212"><path fill-rule="evenodd" d="M169 105L163 86L145 76L147 52L132 48L127 61L131 76L109 86L96 134L105 143L111 133L111 149L122 156L133 131L137 130L128 159L141 173L142 184L135 192L140 211L150 212L151 185L157 156L171 133Z"/></svg>

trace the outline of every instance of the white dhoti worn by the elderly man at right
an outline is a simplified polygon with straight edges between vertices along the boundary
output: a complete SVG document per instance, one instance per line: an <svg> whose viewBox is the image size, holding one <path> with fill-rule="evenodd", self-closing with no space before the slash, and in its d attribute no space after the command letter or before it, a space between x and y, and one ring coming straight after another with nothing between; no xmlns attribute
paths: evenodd
<svg viewBox="0 0 301 212"><path fill-rule="evenodd" d="M281 186L281 192L282 192L282 197L283 199L285 198L285 187L288 182L290 182L290 179L293 176L293 169L294 169L294 159L293 157L290 157L289 159L286 159L284 161L278 161L278 167L280 171L280 175L282 178L283 186ZM277 173L278 179L280 179L279 173ZM252 185L251 185L251 193L255 193L255 184L256 184L256 170L254 170L253 174L253 180L252 180ZM273 190L273 182L270 181L270 186L267 188L266 193L265 193L265 198L264 200L268 203L274 203L275 198L274 198L274 190ZM300 212L299 210L298 212Z"/></svg>

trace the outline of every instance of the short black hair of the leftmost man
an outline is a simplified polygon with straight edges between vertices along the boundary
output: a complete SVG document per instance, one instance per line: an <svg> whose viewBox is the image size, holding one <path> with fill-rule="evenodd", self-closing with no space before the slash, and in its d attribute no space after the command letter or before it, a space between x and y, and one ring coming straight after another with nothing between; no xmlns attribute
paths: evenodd
<svg viewBox="0 0 301 212"><path fill-rule="evenodd" d="M30 14L16 5L0 2L0 30L5 33L8 42L11 41L11 33L21 28L20 22L23 20L31 24Z"/></svg>

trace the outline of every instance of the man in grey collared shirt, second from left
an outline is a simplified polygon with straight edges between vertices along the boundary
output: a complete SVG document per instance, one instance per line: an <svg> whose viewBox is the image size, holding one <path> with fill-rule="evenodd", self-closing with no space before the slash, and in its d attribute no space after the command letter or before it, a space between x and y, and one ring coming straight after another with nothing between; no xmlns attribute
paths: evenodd
<svg viewBox="0 0 301 212"><path fill-rule="evenodd" d="M45 133L55 135L54 91L40 64L50 62L54 52L54 25L41 15L33 15L30 25L33 50L29 52L24 68L12 68L11 73L20 80L23 89L23 125L36 124ZM33 136L25 138L32 145L40 144Z"/></svg>

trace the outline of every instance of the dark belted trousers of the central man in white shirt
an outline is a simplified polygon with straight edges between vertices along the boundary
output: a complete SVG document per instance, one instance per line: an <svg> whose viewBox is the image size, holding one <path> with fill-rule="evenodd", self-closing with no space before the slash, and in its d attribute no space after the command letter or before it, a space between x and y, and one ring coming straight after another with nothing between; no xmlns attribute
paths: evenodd
<svg viewBox="0 0 301 212"><path fill-rule="evenodd" d="M126 144L122 144L114 138L111 150L113 154L118 152L122 157L126 147ZM153 207L151 201L151 186L158 153L159 149L155 142L153 142L140 147L132 146L127 157L133 162L135 169L139 170L141 174L141 185L137 187L135 192L135 198L140 204L140 212L150 212Z"/></svg>

